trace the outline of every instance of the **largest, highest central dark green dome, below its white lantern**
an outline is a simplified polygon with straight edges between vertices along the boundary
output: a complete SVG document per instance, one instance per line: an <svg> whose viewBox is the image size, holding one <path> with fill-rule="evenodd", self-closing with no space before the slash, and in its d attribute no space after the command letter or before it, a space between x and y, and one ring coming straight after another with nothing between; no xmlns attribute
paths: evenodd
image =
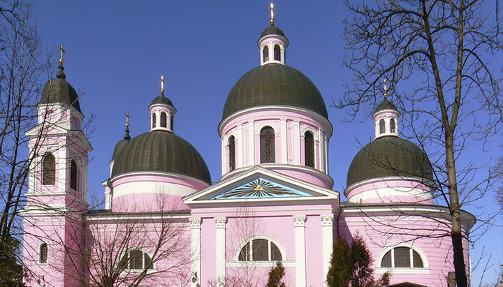
<svg viewBox="0 0 503 287"><path fill-rule="evenodd" d="M323 97L311 80L282 64L266 64L243 75L228 94L222 119L258 105L291 105L328 119Z"/></svg>

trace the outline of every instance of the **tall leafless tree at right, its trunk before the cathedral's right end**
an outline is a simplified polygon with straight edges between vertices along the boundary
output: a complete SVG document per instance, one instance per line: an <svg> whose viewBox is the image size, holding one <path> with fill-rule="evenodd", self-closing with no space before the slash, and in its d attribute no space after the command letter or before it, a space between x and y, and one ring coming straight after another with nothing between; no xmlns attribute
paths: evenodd
<svg viewBox="0 0 503 287"><path fill-rule="evenodd" d="M502 126L501 74L491 63L502 49L501 31L497 14L490 14L497 1L489 3L347 1L351 18L344 36L351 55L344 64L356 80L335 103L347 108L351 119L362 111L368 115L381 101L381 82L391 83L393 100L404 111L402 131L429 152L438 198L449 208L460 287L467 286L461 207L495 187L491 172L474 182L475 173L490 163L474 165L465 151L474 141L486 147Z"/></svg>

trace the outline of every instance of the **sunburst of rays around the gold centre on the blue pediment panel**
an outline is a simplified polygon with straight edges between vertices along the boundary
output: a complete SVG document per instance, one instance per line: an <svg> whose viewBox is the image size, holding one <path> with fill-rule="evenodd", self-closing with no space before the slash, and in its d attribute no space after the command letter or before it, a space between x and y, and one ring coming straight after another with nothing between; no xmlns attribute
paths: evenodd
<svg viewBox="0 0 503 287"><path fill-rule="evenodd" d="M219 196L219 198L270 198L274 196L298 196L298 194L272 182L255 179L253 182L240 186L233 191L228 191L228 193Z"/></svg>

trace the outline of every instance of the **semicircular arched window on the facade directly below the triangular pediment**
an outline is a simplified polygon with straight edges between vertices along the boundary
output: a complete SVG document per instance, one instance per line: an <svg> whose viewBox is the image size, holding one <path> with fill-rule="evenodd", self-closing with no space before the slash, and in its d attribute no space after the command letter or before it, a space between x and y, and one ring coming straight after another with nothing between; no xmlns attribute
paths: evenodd
<svg viewBox="0 0 503 287"><path fill-rule="evenodd" d="M249 240L242 246L238 255L240 261L279 261L283 260L281 251L274 242L258 238Z"/></svg>

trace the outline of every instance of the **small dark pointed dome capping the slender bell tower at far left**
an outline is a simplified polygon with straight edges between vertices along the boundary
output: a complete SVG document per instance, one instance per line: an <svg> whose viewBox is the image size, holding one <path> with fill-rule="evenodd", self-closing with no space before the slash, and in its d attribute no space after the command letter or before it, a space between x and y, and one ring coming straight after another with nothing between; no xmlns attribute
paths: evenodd
<svg viewBox="0 0 503 287"><path fill-rule="evenodd" d="M71 84L68 84L65 80L66 76L63 73L63 67L59 66L59 72L57 73L57 78L49 80L42 92L41 101L38 105L45 103L65 103L66 105L71 105L75 110L80 113L80 104L78 102L77 92Z"/></svg>

